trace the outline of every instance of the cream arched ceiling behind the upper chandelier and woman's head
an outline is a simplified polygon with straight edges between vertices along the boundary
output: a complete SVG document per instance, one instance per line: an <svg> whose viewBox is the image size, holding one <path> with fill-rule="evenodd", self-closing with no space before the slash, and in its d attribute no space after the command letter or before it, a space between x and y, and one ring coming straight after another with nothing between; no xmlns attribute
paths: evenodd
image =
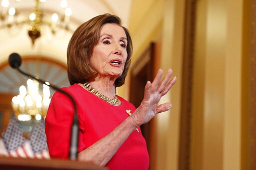
<svg viewBox="0 0 256 170"><path fill-rule="evenodd" d="M10 5L15 0L9 0ZM60 11L61 0L46 0L42 4L45 17L51 16L53 12ZM128 25L129 11L132 0L67 0L67 6L71 8L69 27L74 30L84 21L102 13L118 15L123 25ZM21 0L19 13L28 14L33 10L34 0ZM0 5L0 11L3 8ZM27 25L12 29L0 29L0 63L6 61L8 55L16 51L21 55L44 55L53 57L60 62L66 63L65 52L72 32L59 30L55 36L45 28L42 36L36 40L34 46L27 35Z"/></svg>

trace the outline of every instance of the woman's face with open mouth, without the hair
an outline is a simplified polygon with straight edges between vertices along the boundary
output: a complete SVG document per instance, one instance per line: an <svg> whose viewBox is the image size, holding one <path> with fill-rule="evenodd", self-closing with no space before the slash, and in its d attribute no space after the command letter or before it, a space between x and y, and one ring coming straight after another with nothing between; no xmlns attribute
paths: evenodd
<svg viewBox="0 0 256 170"><path fill-rule="evenodd" d="M98 43L94 46L90 63L98 77L118 78L127 58L127 39L122 27L106 23L100 29Z"/></svg>

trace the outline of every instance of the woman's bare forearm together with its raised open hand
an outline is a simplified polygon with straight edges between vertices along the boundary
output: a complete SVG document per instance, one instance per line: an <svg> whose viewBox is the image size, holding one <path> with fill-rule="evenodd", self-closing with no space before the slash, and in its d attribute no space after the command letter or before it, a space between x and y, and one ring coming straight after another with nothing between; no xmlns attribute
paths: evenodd
<svg viewBox="0 0 256 170"><path fill-rule="evenodd" d="M160 81L162 70L159 70L153 82L146 83L144 98L134 113L107 136L80 152L78 160L105 166L133 130L150 121L156 114L169 110L171 108L170 103L159 106L156 106L156 104L175 83L175 77L169 81L171 74L172 71L169 69L163 80Z"/></svg>

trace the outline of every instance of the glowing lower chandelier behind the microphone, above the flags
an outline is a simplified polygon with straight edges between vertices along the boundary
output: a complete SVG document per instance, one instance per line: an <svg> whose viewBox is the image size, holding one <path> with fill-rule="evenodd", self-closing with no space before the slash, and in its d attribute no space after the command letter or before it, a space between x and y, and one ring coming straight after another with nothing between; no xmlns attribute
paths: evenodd
<svg viewBox="0 0 256 170"><path fill-rule="evenodd" d="M39 83L28 79L27 87L21 85L19 94L12 98L12 108L19 121L40 120L46 116L50 103L49 86L43 85L42 91Z"/></svg>

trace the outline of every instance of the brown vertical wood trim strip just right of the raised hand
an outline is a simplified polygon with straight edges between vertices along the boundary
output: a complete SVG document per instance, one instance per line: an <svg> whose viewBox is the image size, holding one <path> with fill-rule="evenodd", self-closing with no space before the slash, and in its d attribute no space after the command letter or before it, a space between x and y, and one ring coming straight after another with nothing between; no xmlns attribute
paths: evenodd
<svg viewBox="0 0 256 170"><path fill-rule="evenodd" d="M180 108L179 170L189 170L195 0L186 0Z"/></svg>

